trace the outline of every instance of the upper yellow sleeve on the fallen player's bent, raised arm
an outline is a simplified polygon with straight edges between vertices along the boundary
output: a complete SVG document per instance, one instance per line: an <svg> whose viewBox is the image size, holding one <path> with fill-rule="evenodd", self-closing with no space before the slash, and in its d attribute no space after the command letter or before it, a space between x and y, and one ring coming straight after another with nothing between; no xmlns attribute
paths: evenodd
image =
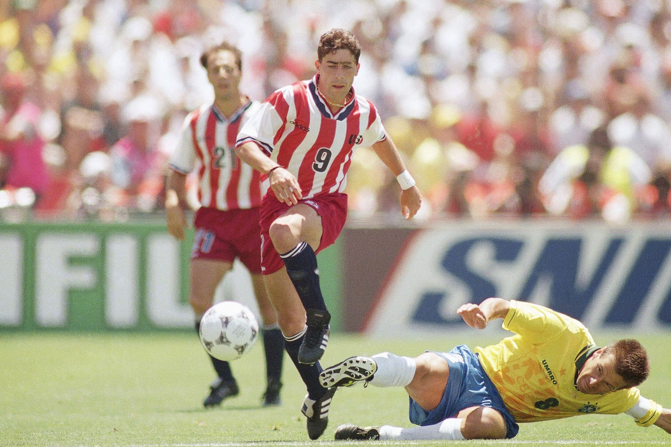
<svg viewBox="0 0 671 447"><path fill-rule="evenodd" d="M503 329L515 332L532 344L547 342L567 329L570 332L584 331L584 326L577 319L548 307L510 301L510 310L503 319Z"/></svg>

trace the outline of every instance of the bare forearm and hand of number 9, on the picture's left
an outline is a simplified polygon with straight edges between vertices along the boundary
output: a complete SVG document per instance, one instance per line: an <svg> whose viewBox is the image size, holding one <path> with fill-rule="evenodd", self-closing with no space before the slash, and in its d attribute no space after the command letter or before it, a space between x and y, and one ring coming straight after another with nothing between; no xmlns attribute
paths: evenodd
<svg viewBox="0 0 671 447"><path fill-rule="evenodd" d="M236 148L236 155L252 168L268 175L270 189L280 202L296 205L303 199L296 177L263 153L254 142L246 142Z"/></svg>

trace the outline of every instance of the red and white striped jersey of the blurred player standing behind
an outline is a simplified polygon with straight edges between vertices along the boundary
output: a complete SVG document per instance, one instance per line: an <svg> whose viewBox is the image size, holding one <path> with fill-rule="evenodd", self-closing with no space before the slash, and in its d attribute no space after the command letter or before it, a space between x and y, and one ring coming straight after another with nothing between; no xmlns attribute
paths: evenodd
<svg viewBox="0 0 671 447"><path fill-rule="evenodd" d="M258 101L249 101L226 119L209 104L187 115L169 166L188 174L199 161L198 199L204 207L226 211L261 205L267 186L262 185L260 173L241 162L234 150L240 127L259 108Z"/></svg>

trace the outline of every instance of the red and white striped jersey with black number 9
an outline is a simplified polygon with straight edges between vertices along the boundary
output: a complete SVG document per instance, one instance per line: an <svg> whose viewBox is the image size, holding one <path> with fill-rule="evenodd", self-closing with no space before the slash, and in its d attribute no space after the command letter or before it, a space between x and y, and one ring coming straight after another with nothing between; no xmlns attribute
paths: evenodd
<svg viewBox="0 0 671 447"><path fill-rule="evenodd" d="M375 106L362 96L353 94L333 115L317 92L318 76L270 95L242 127L236 142L236 146L255 142L287 168L298 180L304 199L342 193L354 149L386 138Z"/></svg>

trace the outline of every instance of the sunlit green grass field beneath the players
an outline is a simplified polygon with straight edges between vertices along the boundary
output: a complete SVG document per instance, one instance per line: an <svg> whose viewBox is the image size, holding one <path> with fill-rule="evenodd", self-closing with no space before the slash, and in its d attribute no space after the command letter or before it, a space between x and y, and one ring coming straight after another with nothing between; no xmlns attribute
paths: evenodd
<svg viewBox="0 0 671 447"><path fill-rule="evenodd" d="M597 342L614 338L597 337ZM640 340L653 366L641 391L671 407L671 334ZM464 336L400 341L336 334L323 364L384 350L407 355L448 350L460 342ZM258 344L233 364L240 395L205 410L201 402L213 372L195 334L0 333L0 446L360 446L333 441L335 428L348 422L411 425L403 389L352 387L336 393L329 427L311 442L299 411L305 388L288 357L285 366L280 407L260 407L265 372ZM446 443L374 443L381 444ZM468 441L474 446L566 444L671 445L671 435L656 427L639 428L627 415L586 415L522 424L514 440Z"/></svg>

